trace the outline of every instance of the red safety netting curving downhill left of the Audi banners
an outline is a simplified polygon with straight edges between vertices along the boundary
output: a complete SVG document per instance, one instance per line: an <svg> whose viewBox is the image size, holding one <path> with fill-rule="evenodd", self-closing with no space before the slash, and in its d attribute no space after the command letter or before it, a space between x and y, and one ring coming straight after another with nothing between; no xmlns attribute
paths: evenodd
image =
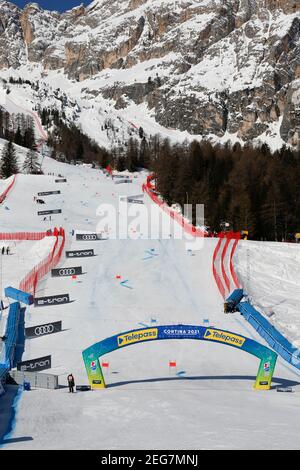
<svg viewBox="0 0 300 470"><path fill-rule="evenodd" d="M40 279L59 263L65 246L65 231L62 228L59 230L54 229L53 235L56 236L56 241L52 252L22 279L19 285L20 290L35 295Z"/></svg>

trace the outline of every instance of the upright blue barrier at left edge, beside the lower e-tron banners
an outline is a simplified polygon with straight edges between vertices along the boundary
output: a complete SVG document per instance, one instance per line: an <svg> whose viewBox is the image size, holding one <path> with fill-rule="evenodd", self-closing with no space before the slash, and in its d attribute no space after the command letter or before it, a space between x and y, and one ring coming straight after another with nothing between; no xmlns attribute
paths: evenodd
<svg viewBox="0 0 300 470"><path fill-rule="evenodd" d="M19 302L11 304L9 308L5 341L0 358L0 380L3 381L7 372L13 367L16 346L18 342L18 328L20 321L21 307Z"/></svg>

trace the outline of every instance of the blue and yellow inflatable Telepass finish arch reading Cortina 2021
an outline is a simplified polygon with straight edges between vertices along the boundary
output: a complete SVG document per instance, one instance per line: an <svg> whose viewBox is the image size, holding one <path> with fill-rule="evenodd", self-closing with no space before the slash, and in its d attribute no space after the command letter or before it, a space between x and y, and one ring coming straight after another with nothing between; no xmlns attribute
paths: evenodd
<svg viewBox="0 0 300 470"><path fill-rule="evenodd" d="M163 339L210 341L248 352L260 359L254 388L257 390L269 390L271 387L277 361L277 354L274 351L250 338L231 331L192 325L166 325L126 331L106 338L85 349L82 356L91 387L99 389L106 386L99 357L132 344Z"/></svg>

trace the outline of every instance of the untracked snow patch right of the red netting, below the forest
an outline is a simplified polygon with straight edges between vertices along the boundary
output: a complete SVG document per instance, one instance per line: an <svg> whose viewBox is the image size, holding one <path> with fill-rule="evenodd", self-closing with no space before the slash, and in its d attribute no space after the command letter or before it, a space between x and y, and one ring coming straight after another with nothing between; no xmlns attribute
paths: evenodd
<svg viewBox="0 0 300 470"><path fill-rule="evenodd" d="M300 348L300 246L240 242L235 263L255 307Z"/></svg>

